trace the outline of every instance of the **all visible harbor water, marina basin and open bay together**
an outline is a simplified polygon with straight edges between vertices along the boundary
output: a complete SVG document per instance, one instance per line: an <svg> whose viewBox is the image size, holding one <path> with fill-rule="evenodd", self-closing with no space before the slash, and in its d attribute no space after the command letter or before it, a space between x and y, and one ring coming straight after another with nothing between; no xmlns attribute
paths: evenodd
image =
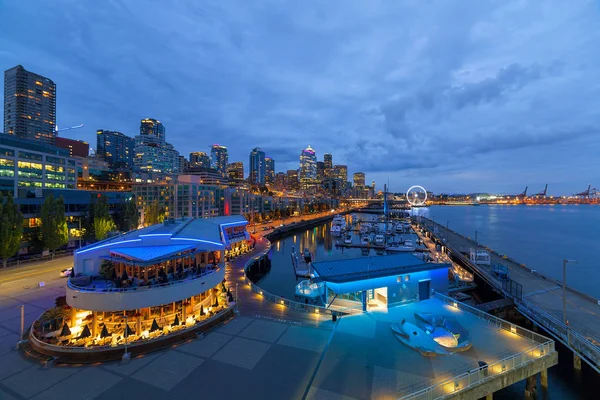
<svg viewBox="0 0 600 400"><path fill-rule="evenodd" d="M562 259L579 261L569 266L568 283L600 298L600 207L596 206L440 206L422 208L419 213L435 217L465 236L474 237L496 251L519 260L546 275L562 277ZM330 223L274 241L270 253L271 271L259 285L274 294L294 298L296 277L291 264L292 248L301 253L309 248L316 261L361 257L361 249L336 248L341 237L332 237ZM358 241L354 234L354 241ZM404 235L405 238L415 237ZM375 255L371 250L370 255ZM598 374L584 366L583 374L572 368L572 354L557 344L559 365L548 371L549 390L538 386L540 399L598 398ZM519 382L494 393L495 399L523 398L525 383Z"/></svg>

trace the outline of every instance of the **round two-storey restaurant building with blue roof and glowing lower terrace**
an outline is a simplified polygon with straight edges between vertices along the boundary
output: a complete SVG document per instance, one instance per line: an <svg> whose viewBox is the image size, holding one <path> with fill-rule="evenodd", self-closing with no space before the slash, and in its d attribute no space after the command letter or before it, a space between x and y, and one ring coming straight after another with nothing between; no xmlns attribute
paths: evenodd
<svg viewBox="0 0 600 400"><path fill-rule="evenodd" d="M66 305L29 339L65 362L121 358L173 343L233 316L225 260L250 250L242 216L167 220L75 252ZM127 353L127 350L125 350Z"/></svg>

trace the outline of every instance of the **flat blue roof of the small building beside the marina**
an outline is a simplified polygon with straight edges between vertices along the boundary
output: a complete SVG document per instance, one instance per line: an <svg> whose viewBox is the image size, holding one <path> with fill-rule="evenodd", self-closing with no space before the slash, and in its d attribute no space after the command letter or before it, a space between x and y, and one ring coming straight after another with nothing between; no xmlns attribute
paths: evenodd
<svg viewBox="0 0 600 400"><path fill-rule="evenodd" d="M312 263L312 267L318 275L315 280L338 283L448 268L449 266L449 264L426 263L412 253Z"/></svg>

